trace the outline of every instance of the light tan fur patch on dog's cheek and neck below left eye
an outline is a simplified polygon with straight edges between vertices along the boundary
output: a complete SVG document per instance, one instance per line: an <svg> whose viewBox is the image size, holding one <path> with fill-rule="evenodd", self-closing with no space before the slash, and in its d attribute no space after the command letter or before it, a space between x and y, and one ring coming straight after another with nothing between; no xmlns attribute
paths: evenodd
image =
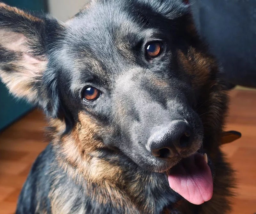
<svg viewBox="0 0 256 214"><path fill-rule="evenodd" d="M66 160L61 160L60 158L60 165L67 172L71 170L69 169L70 166L76 166L76 169L74 169L76 173L69 173L70 176L74 176L79 172L86 180L91 182L99 183L103 179L120 181L121 169L96 158L96 149L105 147L102 142L94 139L94 134L97 133L98 129L97 125L84 113L79 114L79 121L70 135L54 140L54 144L58 145L60 143L60 153L66 157ZM55 124L59 126L61 123L55 122ZM65 164L64 161L68 161L70 166Z"/></svg>

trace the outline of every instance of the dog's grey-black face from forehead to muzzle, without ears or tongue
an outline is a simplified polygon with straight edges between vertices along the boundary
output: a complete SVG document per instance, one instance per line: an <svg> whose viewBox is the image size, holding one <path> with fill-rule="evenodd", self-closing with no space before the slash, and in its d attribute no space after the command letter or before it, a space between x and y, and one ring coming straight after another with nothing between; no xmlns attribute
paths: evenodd
<svg viewBox="0 0 256 214"><path fill-rule="evenodd" d="M157 14L150 4L116 2L92 4L68 22L54 59L67 83L62 96L73 118L93 118L105 145L164 172L203 139L196 94L178 56L189 49L186 23L179 14Z"/></svg>

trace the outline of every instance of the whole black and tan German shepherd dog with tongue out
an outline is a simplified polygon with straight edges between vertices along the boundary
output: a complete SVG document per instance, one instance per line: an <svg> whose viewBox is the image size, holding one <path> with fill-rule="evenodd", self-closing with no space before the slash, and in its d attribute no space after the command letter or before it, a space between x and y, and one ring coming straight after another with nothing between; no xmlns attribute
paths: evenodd
<svg viewBox="0 0 256 214"><path fill-rule="evenodd" d="M221 75L181 0L92 0L66 22L0 3L1 79L52 137L16 213L227 213Z"/></svg>

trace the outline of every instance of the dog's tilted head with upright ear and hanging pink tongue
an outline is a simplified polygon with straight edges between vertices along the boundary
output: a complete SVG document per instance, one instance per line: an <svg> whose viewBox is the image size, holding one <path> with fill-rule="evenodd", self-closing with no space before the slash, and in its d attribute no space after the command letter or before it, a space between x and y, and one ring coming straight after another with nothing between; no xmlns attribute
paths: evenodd
<svg viewBox="0 0 256 214"><path fill-rule="evenodd" d="M82 153L118 151L197 204L212 195L198 151L214 159L226 111L218 75L180 0L94 0L65 23L0 4L10 92L76 129Z"/></svg>

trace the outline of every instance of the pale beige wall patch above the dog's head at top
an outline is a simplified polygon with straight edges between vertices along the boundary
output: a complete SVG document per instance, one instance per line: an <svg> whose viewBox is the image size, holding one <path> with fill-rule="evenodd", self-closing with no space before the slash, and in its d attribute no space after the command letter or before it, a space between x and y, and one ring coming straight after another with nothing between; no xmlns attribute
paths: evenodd
<svg viewBox="0 0 256 214"><path fill-rule="evenodd" d="M61 21L75 15L89 0L48 0L49 12Z"/></svg>

